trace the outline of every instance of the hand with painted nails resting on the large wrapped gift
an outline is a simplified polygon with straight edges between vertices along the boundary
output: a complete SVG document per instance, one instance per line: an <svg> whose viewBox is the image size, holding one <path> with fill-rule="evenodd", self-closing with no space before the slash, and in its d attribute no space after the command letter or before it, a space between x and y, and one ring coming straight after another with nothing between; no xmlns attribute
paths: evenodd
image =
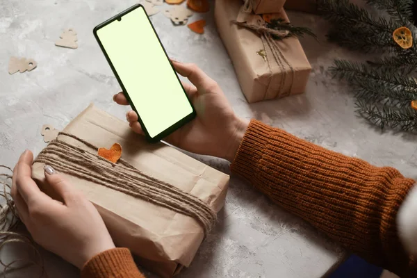
<svg viewBox="0 0 417 278"><path fill-rule="evenodd" d="M95 206L51 166L45 166L45 178L63 202L43 193L31 178L32 163L32 152L20 156L11 194L33 240L80 269L92 256L114 248Z"/></svg>

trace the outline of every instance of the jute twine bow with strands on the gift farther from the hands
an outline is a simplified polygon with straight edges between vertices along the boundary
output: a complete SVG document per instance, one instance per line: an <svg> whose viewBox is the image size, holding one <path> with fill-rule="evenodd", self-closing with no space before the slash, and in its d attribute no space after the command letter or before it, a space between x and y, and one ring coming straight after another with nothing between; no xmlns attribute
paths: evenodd
<svg viewBox="0 0 417 278"><path fill-rule="evenodd" d="M275 97L278 97L278 96L284 97L284 95L279 95L279 94L280 92L282 92L284 85L285 85L286 66L288 66L288 68L291 70L291 73L293 74L293 80L291 82L290 90L288 90L288 93L285 96L290 95L292 88L293 88L295 70L293 66L285 58L284 54L279 48L278 41L276 40L277 38L286 38L289 34L289 31L275 30L272 28L268 28L265 24L265 21L262 19L262 17L252 14L252 11L253 11L252 7L253 7L252 0L245 0L245 3L243 4L242 8L240 8L238 19L232 20L231 23L236 24L237 26L240 26L240 27L247 28L251 31L254 31L261 37L262 44L263 44L263 51L266 54L265 60L268 63L268 68L270 71L270 79L268 82L267 90L265 91L265 95L263 96L263 99L265 99L269 95L270 86L272 85L272 67L271 67L270 58L268 57L267 47L268 49L270 49L270 52L272 54L272 58L273 58L272 61L273 62L275 61L275 63L277 63L277 65L279 66L280 72L282 72L282 74L284 75L281 78L281 81L279 83L279 89L277 90L277 92L275 92L272 99L275 99Z"/></svg>

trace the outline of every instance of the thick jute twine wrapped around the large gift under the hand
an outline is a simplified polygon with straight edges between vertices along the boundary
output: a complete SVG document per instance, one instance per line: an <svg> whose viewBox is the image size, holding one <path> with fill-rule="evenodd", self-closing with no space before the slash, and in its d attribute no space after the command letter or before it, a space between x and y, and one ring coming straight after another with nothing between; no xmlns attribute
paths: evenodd
<svg viewBox="0 0 417 278"><path fill-rule="evenodd" d="M60 132L58 138L59 136L74 138L91 149L98 150L95 145L70 133ZM117 163L111 163L97 156L97 152L92 154L80 147L56 139L49 142L49 145L40 152L34 163L37 162L51 165L58 172L70 174L73 177L91 181L190 216L202 224L205 234L208 234L215 224L215 211L201 199L170 183L145 174L122 158Z"/></svg>

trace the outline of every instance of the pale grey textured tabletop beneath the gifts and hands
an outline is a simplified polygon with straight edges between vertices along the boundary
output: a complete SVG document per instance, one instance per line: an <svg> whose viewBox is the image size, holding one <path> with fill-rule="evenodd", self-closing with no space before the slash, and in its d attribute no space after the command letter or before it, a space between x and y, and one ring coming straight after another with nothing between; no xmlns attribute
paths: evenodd
<svg viewBox="0 0 417 278"><path fill-rule="evenodd" d="M0 164L13 166L26 148L38 153L45 146L40 136L42 124L62 129L90 102L124 119L127 108L112 101L119 85L92 36L92 28L133 3L136 1L0 0ZM326 74L333 58L356 58L356 54L325 42L327 28L321 19L288 15L295 24L311 26L320 41L302 40L313 66L306 93L252 105L241 94L234 68L218 38L213 9L190 19L207 19L204 35L186 26L173 26L162 13L154 15L152 22L170 56L202 67L218 81L241 117L255 117L343 154L398 167L413 177L415 138L370 128L354 115L352 97ZM60 33L70 27L78 32L79 49L55 47ZM38 68L9 75L10 56L34 58ZM197 158L229 172L224 161ZM4 252L1 258L6 260L20 255L19 246ZM79 275L56 256L42 254L49 277ZM232 177L220 223L179 277L321 277L343 256L343 250L318 231Z"/></svg>

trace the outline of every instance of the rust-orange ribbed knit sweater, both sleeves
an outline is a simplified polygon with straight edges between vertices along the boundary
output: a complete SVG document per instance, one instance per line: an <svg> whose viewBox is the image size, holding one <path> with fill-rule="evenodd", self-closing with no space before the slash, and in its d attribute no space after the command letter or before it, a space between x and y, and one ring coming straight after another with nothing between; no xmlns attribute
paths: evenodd
<svg viewBox="0 0 417 278"><path fill-rule="evenodd" d="M375 167L252 121L231 171L370 263L417 277L396 226L414 186L391 167ZM416 231L417 232L417 231ZM85 264L83 278L142 278L129 250L116 248Z"/></svg>

